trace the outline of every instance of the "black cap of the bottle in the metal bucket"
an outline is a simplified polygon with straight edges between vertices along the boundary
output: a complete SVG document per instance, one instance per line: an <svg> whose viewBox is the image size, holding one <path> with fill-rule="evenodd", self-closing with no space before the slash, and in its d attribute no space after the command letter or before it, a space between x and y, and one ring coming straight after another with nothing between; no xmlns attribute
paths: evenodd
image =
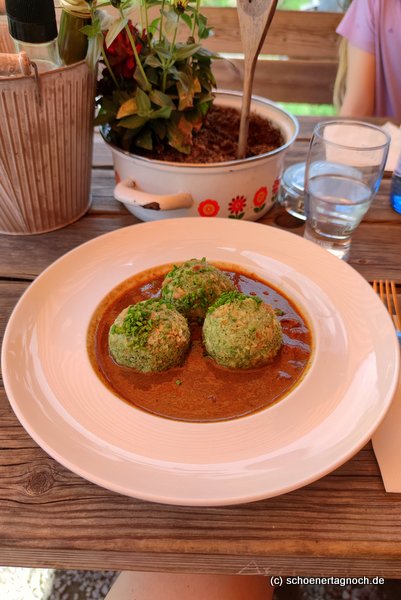
<svg viewBox="0 0 401 600"><path fill-rule="evenodd" d="M53 0L6 0L6 13L15 40L43 44L57 37Z"/></svg>

